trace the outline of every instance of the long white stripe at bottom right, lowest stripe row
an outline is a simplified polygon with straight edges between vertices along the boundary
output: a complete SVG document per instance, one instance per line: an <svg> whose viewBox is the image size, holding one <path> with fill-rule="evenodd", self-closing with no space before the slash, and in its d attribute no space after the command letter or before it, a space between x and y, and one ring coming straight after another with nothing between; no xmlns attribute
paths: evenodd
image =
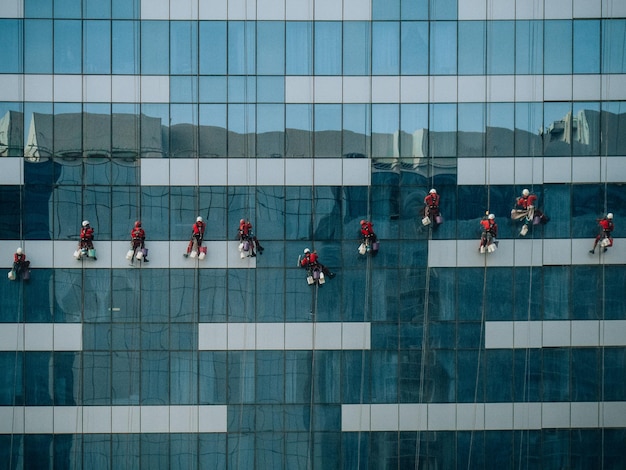
<svg viewBox="0 0 626 470"><path fill-rule="evenodd" d="M487 431L626 426L626 402L341 405L343 432Z"/></svg>

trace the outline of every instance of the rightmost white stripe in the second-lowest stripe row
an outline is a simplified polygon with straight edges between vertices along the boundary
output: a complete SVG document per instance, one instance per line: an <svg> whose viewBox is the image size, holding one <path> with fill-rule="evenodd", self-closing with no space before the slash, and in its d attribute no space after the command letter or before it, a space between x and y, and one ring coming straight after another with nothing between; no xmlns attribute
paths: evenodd
<svg viewBox="0 0 626 470"><path fill-rule="evenodd" d="M485 322L485 348L626 346L626 320Z"/></svg>

